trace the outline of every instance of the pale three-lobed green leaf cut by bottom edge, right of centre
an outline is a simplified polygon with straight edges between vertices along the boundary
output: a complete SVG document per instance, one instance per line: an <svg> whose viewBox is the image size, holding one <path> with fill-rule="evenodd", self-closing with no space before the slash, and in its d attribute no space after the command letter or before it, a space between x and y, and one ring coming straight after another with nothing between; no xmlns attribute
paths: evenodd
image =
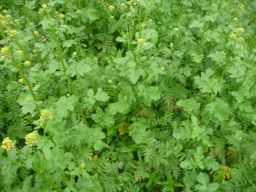
<svg viewBox="0 0 256 192"><path fill-rule="evenodd" d="M197 179L196 179L200 184L197 184L195 186L195 188L199 191L199 192L214 192L219 188L219 184L218 183L211 183L209 184L209 176L207 175L207 173L202 173L200 172L197 175Z"/></svg>

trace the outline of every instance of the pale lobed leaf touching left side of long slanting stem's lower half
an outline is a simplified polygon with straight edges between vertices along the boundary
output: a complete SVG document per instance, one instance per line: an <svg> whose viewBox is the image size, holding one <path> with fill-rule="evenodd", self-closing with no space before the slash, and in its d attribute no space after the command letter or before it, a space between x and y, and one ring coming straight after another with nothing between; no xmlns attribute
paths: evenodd
<svg viewBox="0 0 256 192"><path fill-rule="evenodd" d="M74 107L78 102L77 97L62 96L56 103L57 114L60 118L66 118L68 111L74 111Z"/></svg>

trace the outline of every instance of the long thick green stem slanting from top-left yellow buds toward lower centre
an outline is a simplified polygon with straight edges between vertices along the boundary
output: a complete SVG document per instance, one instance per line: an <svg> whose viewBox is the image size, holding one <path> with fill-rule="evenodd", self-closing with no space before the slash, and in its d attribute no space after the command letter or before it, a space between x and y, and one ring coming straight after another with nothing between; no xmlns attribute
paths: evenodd
<svg viewBox="0 0 256 192"><path fill-rule="evenodd" d="M43 3L45 3L44 0L43 0ZM46 15L47 15L47 19L49 20L50 18L49 18L48 13L46 13ZM58 46L59 57L60 57L60 62L61 62L62 68L63 68L64 72L66 73L67 69L65 67L64 60L62 58L62 50L61 50L61 47L60 47L60 42L59 42L59 40L58 40L58 38L57 38L57 36L55 34L55 30L54 30L53 26L50 25L50 27L51 27L51 30L52 30L52 35L53 35L53 37L55 39L55 42L57 43L57 46ZM75 90L75 87L74 87L73 82L71 80L71 77L69 75L67 75L67 78L68 78L68 81L69 81L69 84L70 84L70 87L72 89L73 94L77 97L76 90ZM87 123L87 121L86 121L86 119L84 117L84 113L82 111L80 102L77 104L77 106L78 106L79 112L80 112L80 114L82 116L82 119L83 119L84 123L89 127L89 125L88 125L88 123Z"/></svg>

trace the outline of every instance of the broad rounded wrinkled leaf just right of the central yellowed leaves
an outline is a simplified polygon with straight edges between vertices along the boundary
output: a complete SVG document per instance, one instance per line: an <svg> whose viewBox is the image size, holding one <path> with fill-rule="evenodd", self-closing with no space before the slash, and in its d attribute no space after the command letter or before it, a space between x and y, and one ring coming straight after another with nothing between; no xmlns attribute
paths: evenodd
<svg viewBox="0 0 256 192"><path fill-rule="evenodd" d="M144 142L144 137L146 135L147 126L140 122L133 122L129 129L131 130L129 136L132 137L136 144Z"/></svg>

